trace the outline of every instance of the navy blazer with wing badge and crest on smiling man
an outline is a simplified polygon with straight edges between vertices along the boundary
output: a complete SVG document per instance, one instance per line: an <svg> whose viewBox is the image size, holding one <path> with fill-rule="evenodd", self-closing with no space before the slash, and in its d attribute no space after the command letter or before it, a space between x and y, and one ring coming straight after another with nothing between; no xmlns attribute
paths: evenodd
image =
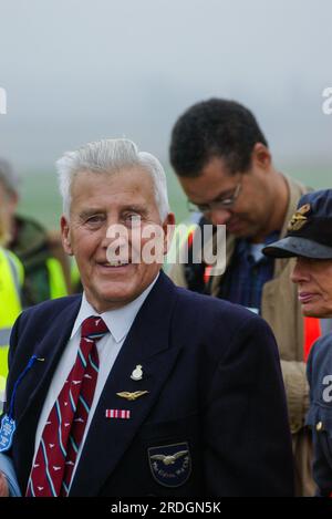
<svg viewBox="0 0 332 519"><path fill-rule="evenodd" d="M25 492L35 430L81 295L18 319L8 402L19 385L11 456ZM136 365L143 378L133 381ZM148 391L136 401L118 392ZM106 418L126 409L129 419ZM7 409L8 411L8 409ZM291 496L291 442L277 345L241 307L176 288L162 272L116 359L97 404L70 496Z"/></svg>

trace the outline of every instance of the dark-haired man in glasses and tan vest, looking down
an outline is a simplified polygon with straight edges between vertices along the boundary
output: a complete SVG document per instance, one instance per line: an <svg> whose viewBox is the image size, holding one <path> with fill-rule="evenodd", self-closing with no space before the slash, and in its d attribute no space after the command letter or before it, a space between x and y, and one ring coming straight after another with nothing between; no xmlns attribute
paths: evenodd
<svg viewBox="0 0 332 519"><path fill-rule="evenodd" d="M176 122L170 163L199 226L226 225L226 270L208 276L209 267L193 261L175 264L179 286L242 304L272 326L279 345L293 437L297 491L314 491L311 443L304 428L308 411L305 321L289 282L292 261L269 259L261 250L283 237L287 224L307 191L279 173L252 113L239 103L211 98L189 107ZM193 243L193 236L190 243Z"/></svg>

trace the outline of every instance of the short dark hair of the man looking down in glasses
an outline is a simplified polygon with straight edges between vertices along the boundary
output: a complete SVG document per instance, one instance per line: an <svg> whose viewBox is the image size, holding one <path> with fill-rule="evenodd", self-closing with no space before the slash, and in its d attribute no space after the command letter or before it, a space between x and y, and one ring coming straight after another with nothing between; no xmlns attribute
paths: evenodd
<svg viewBox="0 0 332 519"><path fill-rule="evenodd" d="M235 101L211 98L194 104L176 122L170 164L181 177L198 177L212 157L222 157L230 174L247 172L256 143L268 146L253 114Z"/></svg>

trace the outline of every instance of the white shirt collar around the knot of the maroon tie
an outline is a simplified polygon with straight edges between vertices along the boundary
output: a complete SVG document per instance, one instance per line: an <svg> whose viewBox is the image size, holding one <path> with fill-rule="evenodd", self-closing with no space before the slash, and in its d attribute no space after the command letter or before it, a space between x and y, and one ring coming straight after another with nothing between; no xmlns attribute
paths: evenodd
<svg viewBox="0 0 332 519"><path fill-rule="evenodd" d="M134 299L134 301L129 302L125 307L116 310L108 310L104 313L97 313L87 301L85 292L83 292L80 311L73 325L71 339L80 332L81 325L85 319L91 315L100 315L112 333L115 342L121 342L128 333L141 307L156 283L159 274L156 276L153 282L144 290L144 292L141 293L141 295L138 295L138 298Z"/></svg>

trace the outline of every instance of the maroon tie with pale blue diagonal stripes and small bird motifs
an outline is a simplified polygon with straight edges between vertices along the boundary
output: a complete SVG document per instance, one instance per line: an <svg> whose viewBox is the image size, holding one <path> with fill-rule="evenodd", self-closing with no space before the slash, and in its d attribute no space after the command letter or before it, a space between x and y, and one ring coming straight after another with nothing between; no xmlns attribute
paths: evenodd
<svg viewBox="0 0 332 519"><path fill-rule="evenodd" d="M68 496L98 374L96 342L108 329L98 316L85 319L75 363L46 421L27 496Z"/></svg>

